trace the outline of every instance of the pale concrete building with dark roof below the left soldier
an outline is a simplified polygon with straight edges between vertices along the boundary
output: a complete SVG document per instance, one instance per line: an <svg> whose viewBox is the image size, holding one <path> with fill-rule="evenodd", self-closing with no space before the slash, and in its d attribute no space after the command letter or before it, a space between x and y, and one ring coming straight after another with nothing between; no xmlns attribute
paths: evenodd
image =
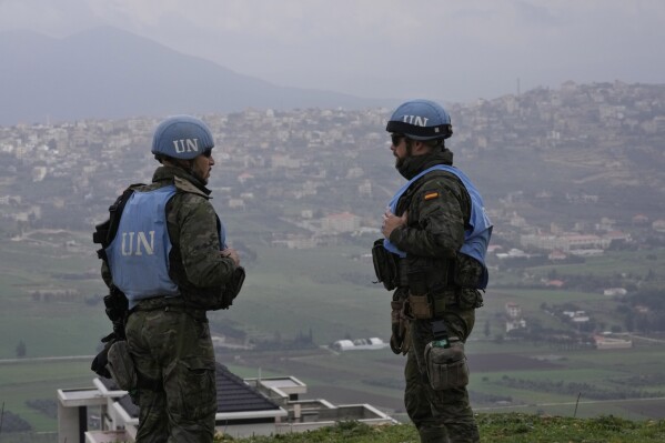
<svg viewBox="0 0 665 443"><path fill-rule="evenodd" d="M303 432L341 421L371 425L397 423L369 404L334 405L320 399L302 400L306 385L292 376L242 380L218 363L216 384L216 432L232 437ZM134 442L138 406L112 380L98 377L93 385L58 390L58 441ZM92 422L98 429L89 429Z"/></svg>

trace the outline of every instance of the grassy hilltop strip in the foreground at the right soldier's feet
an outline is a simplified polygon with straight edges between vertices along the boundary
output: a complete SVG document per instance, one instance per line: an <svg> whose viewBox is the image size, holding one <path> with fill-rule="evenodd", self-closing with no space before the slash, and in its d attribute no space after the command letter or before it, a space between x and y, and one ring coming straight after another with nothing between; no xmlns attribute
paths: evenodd
<svg viewBox="0 0 665 443"><path fill-rule="evenodd" d="M655 443L665 441L665 420L634 422L614 416L572 419L527 414L481 414L477 416L482 443ZM230 439L236 443L407 443L417 442L411 424L370 427L355 422L334 427L278 436Z"/></svg>

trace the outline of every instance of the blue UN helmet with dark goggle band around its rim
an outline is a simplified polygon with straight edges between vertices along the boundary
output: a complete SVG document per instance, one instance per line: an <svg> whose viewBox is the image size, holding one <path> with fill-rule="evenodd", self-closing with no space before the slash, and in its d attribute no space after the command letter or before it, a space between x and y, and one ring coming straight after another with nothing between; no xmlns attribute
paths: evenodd
<svg viewBox="0 0 665 443"><path fill-rule="evenodd" d="M430 100L411 100L401 104L391 115L385 130L412 140L447 139L453 134L449 113Z"/></svg>

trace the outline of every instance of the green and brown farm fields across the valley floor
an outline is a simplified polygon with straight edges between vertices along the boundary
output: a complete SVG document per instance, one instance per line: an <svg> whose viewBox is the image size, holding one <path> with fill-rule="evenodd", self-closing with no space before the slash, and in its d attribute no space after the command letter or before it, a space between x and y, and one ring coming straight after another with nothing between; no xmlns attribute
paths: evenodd
<svg viewBox="0 0 665 443"><path fill-rule="evenodd" d="M284 343L304 335L314 346L261 352L220 348L218 360L243 377L293 375L308 384L311 397L337 404L370 403L406 421L404 356L389 349L337 353L328 348L344 338L389 339L390 293L372 283L373 265L366 256L371 242L361 238L352 245L301 251L249 244L255 260L246 262L243 292L230 310L210 314L211 330L218 334L239 331L254 343ZM101 303L100 262L89 233L40 231L0 243L0 403L33 430L52 432L57 429L52 412L34 404L54 404L60 387L90 386L94 375L90 361L100 338L110 331ZM550 265L530 272L546 275L556 269L558 273L612 275L624 261L634 272L643 272L653 262L646 255L665 256L663 252L613 252L574 268ZM498 340L505 332L506 302L520 304L527 321L551 329L565 325L544 312L543 303L574 303L611 329L622 326L616 300L599 290L506 284L490 286L484 299L466 346L470 392L478 412L612 414L632 420L663 416L665 340L656 335L632 336L632 349L608 351Z"/></svg>

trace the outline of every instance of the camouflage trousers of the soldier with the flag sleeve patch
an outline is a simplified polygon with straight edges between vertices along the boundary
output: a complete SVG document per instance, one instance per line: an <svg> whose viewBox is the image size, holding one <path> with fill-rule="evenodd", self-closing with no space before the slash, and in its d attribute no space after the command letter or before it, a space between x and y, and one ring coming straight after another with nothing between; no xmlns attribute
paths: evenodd
<svg viewBox="0 0 665 443"><path fill-rule="evenodd" d="M465 341L475 322L475 311L446 308L449 335ZM425 345L433 339L430 320L411 321L411 349L406 358L404 404L422 443L477 443L480 435L466 387L434 391L424 363Z"/></svg>

